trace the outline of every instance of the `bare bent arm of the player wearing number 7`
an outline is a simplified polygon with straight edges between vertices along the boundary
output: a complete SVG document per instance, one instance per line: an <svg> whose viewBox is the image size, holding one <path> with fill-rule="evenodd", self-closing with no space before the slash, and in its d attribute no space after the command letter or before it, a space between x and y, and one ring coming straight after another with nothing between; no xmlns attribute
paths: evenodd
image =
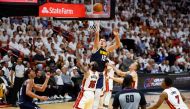
<svg viewBox="0 0 190 109"><path fill-rule="evenodd" d="M151 106L148 109L158 109L160 107L160 105L164 102L164 100L167 99L167 93L162 92L160 95L159 100L157 101L156 104L154 104L153 106Z"/></svg>

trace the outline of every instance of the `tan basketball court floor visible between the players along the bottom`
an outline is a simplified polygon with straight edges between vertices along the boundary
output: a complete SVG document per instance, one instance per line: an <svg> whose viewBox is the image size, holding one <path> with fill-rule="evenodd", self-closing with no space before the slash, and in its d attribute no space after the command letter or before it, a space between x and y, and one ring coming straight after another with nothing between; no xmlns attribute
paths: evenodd
<svg viewBox="0 0 190 109"><path fill-rule="evenodd" d="M188 98L185 103L188 105L188 107L190 109L190 92L183 92L182 94L186 98ZM146 97L148 105L152 105L158 100L159 93L148 93L147 95L145 95L145 97ZM109 109L112 109L111 108L112 101L113 101L113 99L111 100ZM74 102L64 102L64 103L56 103L56 104L43 104L43 105L39 105L39 106L42 109L72 109L73 104L74 104ZM17 107L17 108L6 107L5 109L19 109L19 107ZM159 109L170 109L170 108L164 102Z"/></svg>

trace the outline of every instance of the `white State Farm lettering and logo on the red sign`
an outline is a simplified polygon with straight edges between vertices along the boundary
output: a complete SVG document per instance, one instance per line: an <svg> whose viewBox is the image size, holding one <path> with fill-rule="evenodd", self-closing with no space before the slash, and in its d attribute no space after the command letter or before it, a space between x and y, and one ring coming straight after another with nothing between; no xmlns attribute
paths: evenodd
<svg viewBox="0 0 190 109"><path fill-rule="evenodd" d="M74 14L74 10L65 8L53 8L53 7L43 7L43 14Z"/></svg>

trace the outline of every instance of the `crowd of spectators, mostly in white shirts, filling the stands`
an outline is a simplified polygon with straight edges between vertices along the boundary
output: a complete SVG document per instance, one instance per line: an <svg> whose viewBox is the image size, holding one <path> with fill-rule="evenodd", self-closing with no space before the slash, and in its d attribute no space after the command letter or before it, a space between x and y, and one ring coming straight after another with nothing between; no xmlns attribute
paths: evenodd
<svg viewBox="0 0 190 109"><path fill-rule="evenodd" d="M107 46L114 43L112 30L119 30L122 46L109 57L124 71L134 60L140 62L142 73L190 71L188 4L186 0L117 0L115 19L100 23L100 36L106 37ZM43 83L45 72L51 73L49 86L41 94L75 98L80 90L76 78L82 76L75 65L75 51L79 49L83 64L90 62L95 35L89 28L90 22L2 17L0 81L6 84L7 90L14 89L7 95L10 96L7 101L16 104L24 71L28 68L35 69L37 84Z"/></svg>

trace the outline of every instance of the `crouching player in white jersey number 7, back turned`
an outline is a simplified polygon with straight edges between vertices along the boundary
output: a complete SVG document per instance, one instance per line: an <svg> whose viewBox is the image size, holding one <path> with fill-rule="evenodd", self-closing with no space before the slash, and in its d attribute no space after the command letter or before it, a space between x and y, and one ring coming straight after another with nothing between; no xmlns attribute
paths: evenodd
<svg viewBox="0 0 190 109"><path fill-rule="evenodd" d="M160 105L166 101L170 109L188 109L184 103L185 97L179 92L178 89L172 87L173 81L169 77L164 78L161 87L164 91L160 94L160 98L155 105L149 109L158 109Z"/></svg>

